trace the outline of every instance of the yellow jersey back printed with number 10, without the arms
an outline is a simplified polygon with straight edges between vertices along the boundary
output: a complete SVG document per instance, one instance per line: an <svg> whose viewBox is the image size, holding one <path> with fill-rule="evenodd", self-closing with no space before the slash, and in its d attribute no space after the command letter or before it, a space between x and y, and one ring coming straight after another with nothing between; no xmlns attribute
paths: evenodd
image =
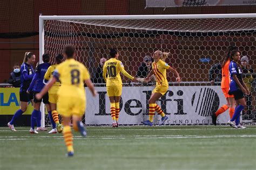
<svg viewBox="0 0 256 170"><path fill-rule="evenodd" d="M122 66L122 62L116 58L111 58L105 62L104 67L107 70L106 86L122 85L122 79L120 77L120 67Z"/></svg>

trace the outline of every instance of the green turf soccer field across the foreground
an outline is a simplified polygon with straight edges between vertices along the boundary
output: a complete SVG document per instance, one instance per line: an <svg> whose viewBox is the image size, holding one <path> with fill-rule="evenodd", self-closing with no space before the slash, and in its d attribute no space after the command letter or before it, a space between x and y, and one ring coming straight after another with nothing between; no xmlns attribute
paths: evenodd
<svg viewBox="0 0 256 170"><path fill-rule="evenodd" d="M62 134L0 128L0 169L254 169L256 126L87 127L75 156Z"/></svg>

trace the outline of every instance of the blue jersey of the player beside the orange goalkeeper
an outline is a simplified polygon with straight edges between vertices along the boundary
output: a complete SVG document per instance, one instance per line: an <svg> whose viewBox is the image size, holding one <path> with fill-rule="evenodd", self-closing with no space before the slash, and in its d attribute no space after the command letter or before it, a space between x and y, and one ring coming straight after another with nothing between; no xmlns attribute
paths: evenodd
<svg viewBox="0 0 256 170"><path fill-rule="evenodd" d="M230 79L231 79L230 91L233 92L233 91L241 90L238 84L235 83L233 75L236 74L239 82L242 84L242 69L237 63L231 61L230 66L228 67L228 70L230 71Z"/></svg>

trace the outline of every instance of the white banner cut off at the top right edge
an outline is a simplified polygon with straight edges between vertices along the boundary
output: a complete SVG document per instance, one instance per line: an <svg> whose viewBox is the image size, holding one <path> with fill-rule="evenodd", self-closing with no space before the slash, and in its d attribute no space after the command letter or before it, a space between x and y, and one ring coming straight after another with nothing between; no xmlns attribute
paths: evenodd
<svg viewBox="0 0 256 170"><path fill-rule="evenodd" d="M146 0L146 8L180 6L255 5L256 0Z"/></svg>

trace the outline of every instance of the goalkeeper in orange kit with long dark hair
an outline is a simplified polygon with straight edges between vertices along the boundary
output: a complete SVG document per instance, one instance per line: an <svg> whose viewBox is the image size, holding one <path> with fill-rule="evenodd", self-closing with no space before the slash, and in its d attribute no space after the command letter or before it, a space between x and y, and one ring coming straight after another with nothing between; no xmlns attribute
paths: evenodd
<svg viewBox="0 0 256 170"><path fill-rule="evenodd" d="M217 125L217 117L221 113L224 113L229 108L230 118L233 117L234 114L234 108L235 108L235 100L234 96L228 94L228 90L230 89L230 76L228 73L228 67L230 66L230 52L232 50L238 50L238 47L236 46L229 46L227 47L227 50L225 51L225 55L223 57L223 63L221 65L221 90L223 91L223 94L227 100L227 104L221 106L217 112L212 114L212 123L213 125Z"/></svg>

